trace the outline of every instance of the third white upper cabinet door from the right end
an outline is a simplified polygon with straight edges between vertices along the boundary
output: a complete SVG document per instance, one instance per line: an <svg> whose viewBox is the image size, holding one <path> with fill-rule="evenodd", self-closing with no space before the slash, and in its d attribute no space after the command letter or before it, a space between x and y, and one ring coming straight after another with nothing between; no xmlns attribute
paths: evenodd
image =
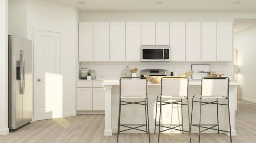
<svg viewBox="0 0 256 143"><path fill-rule="evenodd" d="M201 22L186 22L186 61L201 60Z"/></svg>

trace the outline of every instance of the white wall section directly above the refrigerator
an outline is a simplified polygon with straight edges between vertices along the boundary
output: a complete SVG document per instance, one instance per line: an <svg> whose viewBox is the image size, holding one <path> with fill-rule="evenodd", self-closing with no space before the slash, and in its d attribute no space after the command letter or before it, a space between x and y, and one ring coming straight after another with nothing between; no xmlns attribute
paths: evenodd
<svg viewBox="0 0 256 143"><path fill-rule="evenodd" d="M27 38L27 0L8 0L8 34Z"/></svg>

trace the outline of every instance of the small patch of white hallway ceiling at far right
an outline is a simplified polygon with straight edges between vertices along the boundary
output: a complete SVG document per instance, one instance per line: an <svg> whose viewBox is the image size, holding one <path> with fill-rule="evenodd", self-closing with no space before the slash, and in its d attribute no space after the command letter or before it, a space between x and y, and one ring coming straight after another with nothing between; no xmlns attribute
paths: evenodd
<svg viewBox="0 0 256 143"><path fill-rule="evenodd" d="M256 19L234 19L234 32L256 26Z"/></svg>

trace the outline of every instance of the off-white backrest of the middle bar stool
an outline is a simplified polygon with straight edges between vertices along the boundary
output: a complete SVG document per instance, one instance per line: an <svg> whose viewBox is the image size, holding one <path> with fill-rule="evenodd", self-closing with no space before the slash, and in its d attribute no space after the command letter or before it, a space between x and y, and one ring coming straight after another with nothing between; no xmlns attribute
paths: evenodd
<svg viewBox="0 0 256 143"><path fill-rule="evenodd" d="M188 78L161 78L161 96L188 96Z"/></svg>

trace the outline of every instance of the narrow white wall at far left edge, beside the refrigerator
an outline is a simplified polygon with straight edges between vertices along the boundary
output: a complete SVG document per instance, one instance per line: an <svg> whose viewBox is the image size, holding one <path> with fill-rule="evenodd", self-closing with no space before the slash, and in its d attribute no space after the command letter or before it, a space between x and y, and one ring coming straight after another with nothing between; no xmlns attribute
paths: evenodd
<svg viewBox="0 0 256 143"><path fill-rule="evenodd" d="M0 1L0 135L8 129L8 0Z"/></svg>

